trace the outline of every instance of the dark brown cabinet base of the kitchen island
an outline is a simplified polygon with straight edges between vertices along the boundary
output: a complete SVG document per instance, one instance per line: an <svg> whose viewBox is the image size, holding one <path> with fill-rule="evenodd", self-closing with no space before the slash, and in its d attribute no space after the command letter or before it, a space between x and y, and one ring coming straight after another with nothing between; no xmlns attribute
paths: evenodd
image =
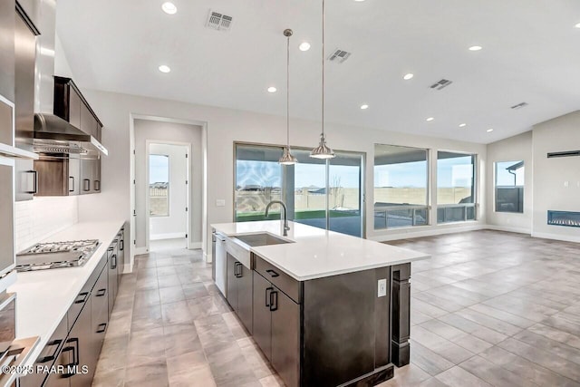
<svg viewBox="0 0 580 387"><path fill-rule="evenodd" d="M287 386L372 386L409 363L411 264L306 281L251 266L227 254L227 301Z"/></svg>

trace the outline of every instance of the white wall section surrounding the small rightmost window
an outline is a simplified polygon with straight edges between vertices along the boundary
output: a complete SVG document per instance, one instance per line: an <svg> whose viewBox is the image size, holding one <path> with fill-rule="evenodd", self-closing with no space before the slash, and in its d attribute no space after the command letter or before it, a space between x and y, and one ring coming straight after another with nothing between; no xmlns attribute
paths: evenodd
<svg viewBox="0 0 580 387"><path fill-rule="evenodd" d="M524 160L524 213L496 212L495 163L498 161ZM486 179L488 225L509 231L530 234L534 212L534 158L532 155L532 131L488 144L488 172Z"/></svg>

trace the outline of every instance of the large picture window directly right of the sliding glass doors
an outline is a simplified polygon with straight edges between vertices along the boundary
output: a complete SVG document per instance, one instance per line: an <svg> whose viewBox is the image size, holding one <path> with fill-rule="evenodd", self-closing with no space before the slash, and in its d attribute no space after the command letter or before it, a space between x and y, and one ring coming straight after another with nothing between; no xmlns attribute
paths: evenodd
<svg viewBox="0 0 580 387"><path fill-rule="evenodd" d="M374 145L374 228L429 224L428 151Z"/></svg>

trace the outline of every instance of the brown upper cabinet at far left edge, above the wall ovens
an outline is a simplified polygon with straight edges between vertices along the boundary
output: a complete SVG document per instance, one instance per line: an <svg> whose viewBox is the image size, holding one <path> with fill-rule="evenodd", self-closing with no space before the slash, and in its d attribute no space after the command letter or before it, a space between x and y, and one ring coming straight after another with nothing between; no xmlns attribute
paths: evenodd
<svg viewBox="0 0 580 387"><path fill-rule="evenodd" d="M14 102L14 0L0 1L0 95ZM10 144L8 144L10 145Z"/></svg>

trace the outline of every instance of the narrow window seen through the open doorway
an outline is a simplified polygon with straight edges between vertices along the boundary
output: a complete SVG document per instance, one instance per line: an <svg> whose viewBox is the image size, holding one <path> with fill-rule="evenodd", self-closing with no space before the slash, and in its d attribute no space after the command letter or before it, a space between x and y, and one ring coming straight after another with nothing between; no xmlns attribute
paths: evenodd
<svg viewBox="0 0 580 387"><path fill-rule="evenodd" d="M149 155L150 217L169 217L169 156Z"/></svg>

